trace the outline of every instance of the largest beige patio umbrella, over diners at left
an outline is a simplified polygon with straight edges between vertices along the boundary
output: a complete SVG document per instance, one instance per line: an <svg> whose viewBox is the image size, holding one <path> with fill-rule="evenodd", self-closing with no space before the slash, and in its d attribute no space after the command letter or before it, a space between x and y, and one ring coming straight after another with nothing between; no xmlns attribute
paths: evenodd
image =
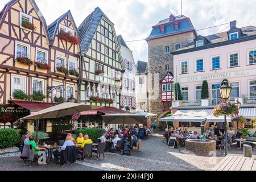
<svg viewBox="0 0 256 182"><path fill-rule="evenodd" d="M30 114L27 117L20 118L20 120L60 118L60 117L64 117L67 115L80 113L82 111L93 110L93 109L98 109L98 108L99 108L99 106L65 102L63 104L48 107L47 109Z"/></svg>

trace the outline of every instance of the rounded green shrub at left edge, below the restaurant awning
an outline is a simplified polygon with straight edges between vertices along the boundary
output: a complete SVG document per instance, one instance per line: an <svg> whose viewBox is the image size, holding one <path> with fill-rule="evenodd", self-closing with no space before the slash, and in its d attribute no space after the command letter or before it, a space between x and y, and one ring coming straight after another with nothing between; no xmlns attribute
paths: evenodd
<svg viewBox="0 0 256 182"><path fill-rule="evenodd" d="M0 148L16 146L19 138L19 131L16 129L0 129Z"/></svg>

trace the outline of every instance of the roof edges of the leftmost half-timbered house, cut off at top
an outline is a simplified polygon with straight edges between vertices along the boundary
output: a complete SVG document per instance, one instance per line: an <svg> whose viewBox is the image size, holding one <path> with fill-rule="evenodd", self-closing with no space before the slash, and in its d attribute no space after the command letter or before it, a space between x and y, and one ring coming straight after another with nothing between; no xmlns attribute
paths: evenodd
<svg viewBox="0 0 256 182"><path fill-rule="evenodd" d="M18 0L12 0L9 1L8 3L6 3L6 5L3 7L3 10L0 13L0 28L2 25L2 20L5 18L5 15L7 13L7 11L10 9L11 6L14 5L14 3L16 3ZM29 0L31 5L33 6L34 10L36 11L36 14L39 16L40 21L42 22L42 26L43 26L43 30L44 32L46 32L46 40L48 45L50 44L50 40L49 40L49 34L48 34L48 30L47 30L47 24L46 24L46 19L44 19L43 14L41 13L41 11L39 10L38 5L36 5L36 2L34 0Z"/></svg>

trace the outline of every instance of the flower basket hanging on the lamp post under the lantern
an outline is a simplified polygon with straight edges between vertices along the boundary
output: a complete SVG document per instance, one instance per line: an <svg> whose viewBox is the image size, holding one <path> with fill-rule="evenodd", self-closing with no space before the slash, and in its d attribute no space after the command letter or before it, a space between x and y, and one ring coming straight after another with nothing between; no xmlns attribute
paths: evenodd
<svg viewBox="0 0 256 182"><path fill-rule="evenodd" d="M221 103L214 107L213 115L220 117L221 115L238 115L238 108L233 103Z"/></svg>

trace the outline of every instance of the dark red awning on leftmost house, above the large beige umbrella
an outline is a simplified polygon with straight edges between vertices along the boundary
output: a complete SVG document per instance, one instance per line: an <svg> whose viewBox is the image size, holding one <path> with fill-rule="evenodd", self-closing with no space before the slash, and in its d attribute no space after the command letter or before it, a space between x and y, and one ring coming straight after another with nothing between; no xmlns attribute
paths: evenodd
<svg viewBox="0 0 256 182"><path fill-rule="evenodd" d="M48 107L56 105L56 103L48 102L24 102L24 101L11 101L11 103L16 104L24 109L30 110L31 112L37 112Z"/></svg>

